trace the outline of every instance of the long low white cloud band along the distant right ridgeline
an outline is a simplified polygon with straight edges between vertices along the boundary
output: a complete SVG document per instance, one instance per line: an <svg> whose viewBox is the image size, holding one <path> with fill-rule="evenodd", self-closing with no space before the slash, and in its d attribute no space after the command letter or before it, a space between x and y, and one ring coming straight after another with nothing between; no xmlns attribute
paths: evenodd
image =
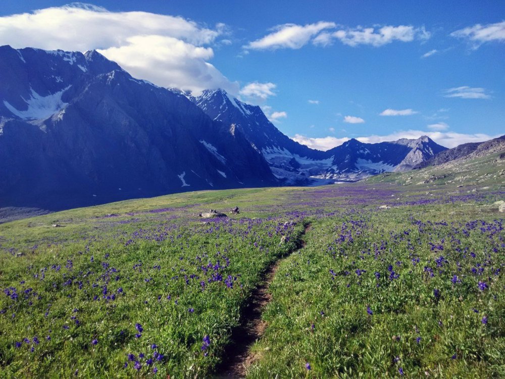
<svg viewBox="0 0 505 379"><path fill-rule="evenodd" d="M365 144L377 144L385 141L394 141L400 138L417 139L422 135L427 135L433 139L437 144L445 146L446 148L454 148L461 144L469 142L483 142L492 138L499 137L497 135L488 135L484 133L465 134L457 132L442 132L442 131L422 131L422 130L400 130L386 135L369 135L358 137L360 142ZM342 145L345 141L349 140L348 137L335 138L333 136L326 136L320 138L307 137L300 134L295 134L291 137L300 144L307 145L313 149L329 150L336 146Z"/></svg>

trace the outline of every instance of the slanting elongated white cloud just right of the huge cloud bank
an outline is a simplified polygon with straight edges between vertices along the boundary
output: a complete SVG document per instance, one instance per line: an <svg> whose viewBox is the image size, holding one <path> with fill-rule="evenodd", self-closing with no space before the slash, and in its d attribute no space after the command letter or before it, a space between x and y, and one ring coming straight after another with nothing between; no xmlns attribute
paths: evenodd
<svg viewBox="0 0 505 379"><path fill-rule="evenodd" d="M274 32L256 41L249 42L244 48L255 50L299 49L321 30L335 27L335 23L325 21L307 25L278 25L273 29Z"/></svg>

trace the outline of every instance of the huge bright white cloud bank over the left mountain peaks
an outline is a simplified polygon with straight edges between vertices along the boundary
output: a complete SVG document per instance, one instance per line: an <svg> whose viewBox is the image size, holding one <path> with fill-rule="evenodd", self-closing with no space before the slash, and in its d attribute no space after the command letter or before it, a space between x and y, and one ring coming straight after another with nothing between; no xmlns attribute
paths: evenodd
<svg viewBox="0 0 505 379"><path fill-rule="evenodd" d="M226 26L207 28L182 17L109 12L73 3L0 17L0 45L66 51L98 50L135 77L164 87L238 92L208 60Z"/></svg>

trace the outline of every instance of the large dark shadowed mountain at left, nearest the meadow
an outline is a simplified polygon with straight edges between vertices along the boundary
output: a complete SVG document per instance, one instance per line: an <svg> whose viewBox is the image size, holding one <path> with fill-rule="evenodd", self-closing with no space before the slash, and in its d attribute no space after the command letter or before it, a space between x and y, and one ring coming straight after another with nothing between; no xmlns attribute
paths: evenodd
<svg viewBox="0 0 505 379"><path fill-rule="evenodd" d="M0 207L277 185L241 131L95 51L0 47Z"/></svg>

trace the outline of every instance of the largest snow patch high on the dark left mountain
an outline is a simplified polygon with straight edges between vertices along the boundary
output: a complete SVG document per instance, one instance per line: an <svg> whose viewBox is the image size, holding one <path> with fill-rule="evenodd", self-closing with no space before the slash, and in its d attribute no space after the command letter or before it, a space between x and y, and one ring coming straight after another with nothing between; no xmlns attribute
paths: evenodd
<svg viewBox="0 0 505 379"><path fill-rule="evenodd" d="M30 88L30 99L22 98L28 105L28 109L20 111L13 107L9 102L4 100L6 108L15 116L23 120L46 119L65 108L68 103L62 101L63 93L70 88L70 85L61 91L50 94L48 96L40 96L32 88Z"/></svg>

